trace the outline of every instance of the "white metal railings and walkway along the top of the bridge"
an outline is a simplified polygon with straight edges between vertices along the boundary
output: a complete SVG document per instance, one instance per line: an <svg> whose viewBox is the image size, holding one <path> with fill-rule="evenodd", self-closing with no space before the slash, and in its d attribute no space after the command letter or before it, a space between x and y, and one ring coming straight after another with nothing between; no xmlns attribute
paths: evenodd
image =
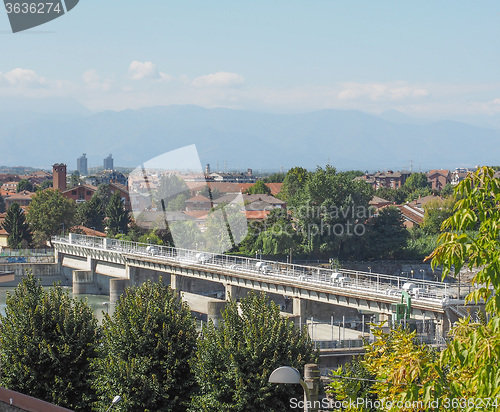
<svg viewBox="0 0 500 412"><path fill-rule="evenodd" d="M297 285L315 285L326 287L332 291L345 291L347 289L377 297L400 297L404 284L411 282L414 286L412 300L445 304L450 299L458 299L458 284L431 280L405 279L379 273L303 266L73 233L67 237L56 236L54 242L116 251L123 254L153 256L178 263L185 262L186 264L223 268L227 272L245 275L258 274L259 277L269 279L293 279ZM460 286L462 290L470 289L470 284Z"/></svg>

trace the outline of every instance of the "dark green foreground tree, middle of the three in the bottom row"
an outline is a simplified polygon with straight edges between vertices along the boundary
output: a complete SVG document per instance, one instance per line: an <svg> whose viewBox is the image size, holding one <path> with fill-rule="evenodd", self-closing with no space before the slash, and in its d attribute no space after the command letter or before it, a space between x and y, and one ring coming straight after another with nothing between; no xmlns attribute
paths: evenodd
<svg viewBox="0 0 500 412"><path fill-rule="evenodd" d="M117 394L119 411L187 409L196 329L189 307L169 286L160 279L127 288L102 329L102 356L95 363L99 410Z"/></svg>

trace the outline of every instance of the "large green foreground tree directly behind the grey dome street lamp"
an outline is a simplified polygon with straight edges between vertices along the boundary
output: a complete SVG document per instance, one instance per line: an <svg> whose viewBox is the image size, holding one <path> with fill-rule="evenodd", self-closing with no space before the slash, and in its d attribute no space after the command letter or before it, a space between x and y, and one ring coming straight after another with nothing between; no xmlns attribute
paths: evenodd
<svg viewBox="0 0 500 412"><path fill-rule="evenodd" d="M228 302L223 322L203 328L192 367L200 387L193 411L288 411L298 385L268 383L283 365L303 370L317 360L305 329L280 315L267 297L250 293Z"/></svg>

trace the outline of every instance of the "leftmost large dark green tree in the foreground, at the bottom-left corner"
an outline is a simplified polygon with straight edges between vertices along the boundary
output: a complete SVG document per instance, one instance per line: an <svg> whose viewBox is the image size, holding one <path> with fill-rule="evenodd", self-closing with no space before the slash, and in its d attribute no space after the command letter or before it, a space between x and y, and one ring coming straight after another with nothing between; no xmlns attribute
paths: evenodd
<svg viewBox="0 0 500 412"><path fill-rule="evenodd" d="M86 303L60 286L42 289L30 274L12 295L7 292L0 320L2 386L75 411L90 410L99 334Z"/></svg>

